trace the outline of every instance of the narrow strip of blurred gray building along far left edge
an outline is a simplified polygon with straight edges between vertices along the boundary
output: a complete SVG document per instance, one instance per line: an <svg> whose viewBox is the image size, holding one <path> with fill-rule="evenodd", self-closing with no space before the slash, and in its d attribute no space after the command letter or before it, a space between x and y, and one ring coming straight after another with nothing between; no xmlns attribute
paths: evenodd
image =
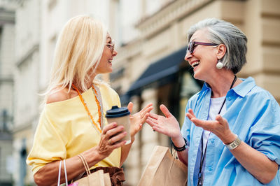
<svg viewBox="0 0 280 186"><path fill-rule="evenodd" d="M15 6L0 1L0 185L12 185Z"/></svg>

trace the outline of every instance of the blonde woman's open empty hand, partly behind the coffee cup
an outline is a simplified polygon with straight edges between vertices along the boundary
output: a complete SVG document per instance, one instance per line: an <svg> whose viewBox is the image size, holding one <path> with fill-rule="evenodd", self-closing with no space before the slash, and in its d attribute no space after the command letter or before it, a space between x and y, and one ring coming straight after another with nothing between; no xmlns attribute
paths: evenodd
<svg viewBox="0 0 280 186"><path fill-rule="evenodd" d="M130 102L127 105L128 110L132 113L133 103ZM145 108L140 110L138 113L134 115L130 115L130 135L134 138L135 134L141 130L142 125L146 122L148 113L153 110L153 103L149 103Z"/></svg>

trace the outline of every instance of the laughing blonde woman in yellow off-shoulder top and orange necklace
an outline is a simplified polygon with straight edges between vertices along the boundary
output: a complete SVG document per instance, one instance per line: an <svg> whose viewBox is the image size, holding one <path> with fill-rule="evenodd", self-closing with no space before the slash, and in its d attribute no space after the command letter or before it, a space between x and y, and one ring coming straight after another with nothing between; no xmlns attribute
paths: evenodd
<svg viewBox="0 0 280 186"><path fill-rule="evenodd" d="M117 55L104 24L87 15L73 17L59 35L45 106L36 129L34 144L27 157L37 185L56 185L59 162L66 159L68 180L83 177L83 155L92 171L104 169L123 185L120 169L132 143L121 139L134 135L146 122L152 105L130 116L131 134L123 126L106 123L104 113L120 106L118 94L95 79L99 73L111 73ZM132 110L132 103L127 106ZM62 175L64 167L62 165ZM118 174L119 176L116 176ZM113 176L115 175L115 176ZM64 176L61 183L65 183Z"/></svg>

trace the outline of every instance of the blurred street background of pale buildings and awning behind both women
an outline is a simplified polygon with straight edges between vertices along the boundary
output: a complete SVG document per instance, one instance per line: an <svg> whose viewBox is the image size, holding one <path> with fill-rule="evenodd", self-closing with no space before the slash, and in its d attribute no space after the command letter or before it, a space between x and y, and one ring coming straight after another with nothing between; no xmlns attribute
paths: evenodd
<svg viewBox="0 0 280 186"><path fill-rule="evenodd" d="M280 0L0 0L0 185L34 185L25 159L50 78L57 36L71 17L102 19L116 41L113 73L102 76L134 111L164 103L183 123L186 102L202 82L184 61L187 31L207 17L232 22L248 37L252 76L280 103ZM280 114L280 113L279 113ZM125 185L137 185L155 145L169 138L147 124L124 164Z"/></svg>

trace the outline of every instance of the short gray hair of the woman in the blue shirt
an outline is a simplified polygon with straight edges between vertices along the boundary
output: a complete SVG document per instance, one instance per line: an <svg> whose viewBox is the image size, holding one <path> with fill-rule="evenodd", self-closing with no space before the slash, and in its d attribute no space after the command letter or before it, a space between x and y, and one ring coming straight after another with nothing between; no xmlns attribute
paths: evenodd
<svg viewBox="0 0 280 186"><path fill-rule="evenodd" d="M188 30L188 42L195 31L207 29L209 41L216 44L224 44L227 48L225 55L219 62L233 73L238 73L246 64L247 38L235 25L224 20L209 18L194 24Z"/></svg>

